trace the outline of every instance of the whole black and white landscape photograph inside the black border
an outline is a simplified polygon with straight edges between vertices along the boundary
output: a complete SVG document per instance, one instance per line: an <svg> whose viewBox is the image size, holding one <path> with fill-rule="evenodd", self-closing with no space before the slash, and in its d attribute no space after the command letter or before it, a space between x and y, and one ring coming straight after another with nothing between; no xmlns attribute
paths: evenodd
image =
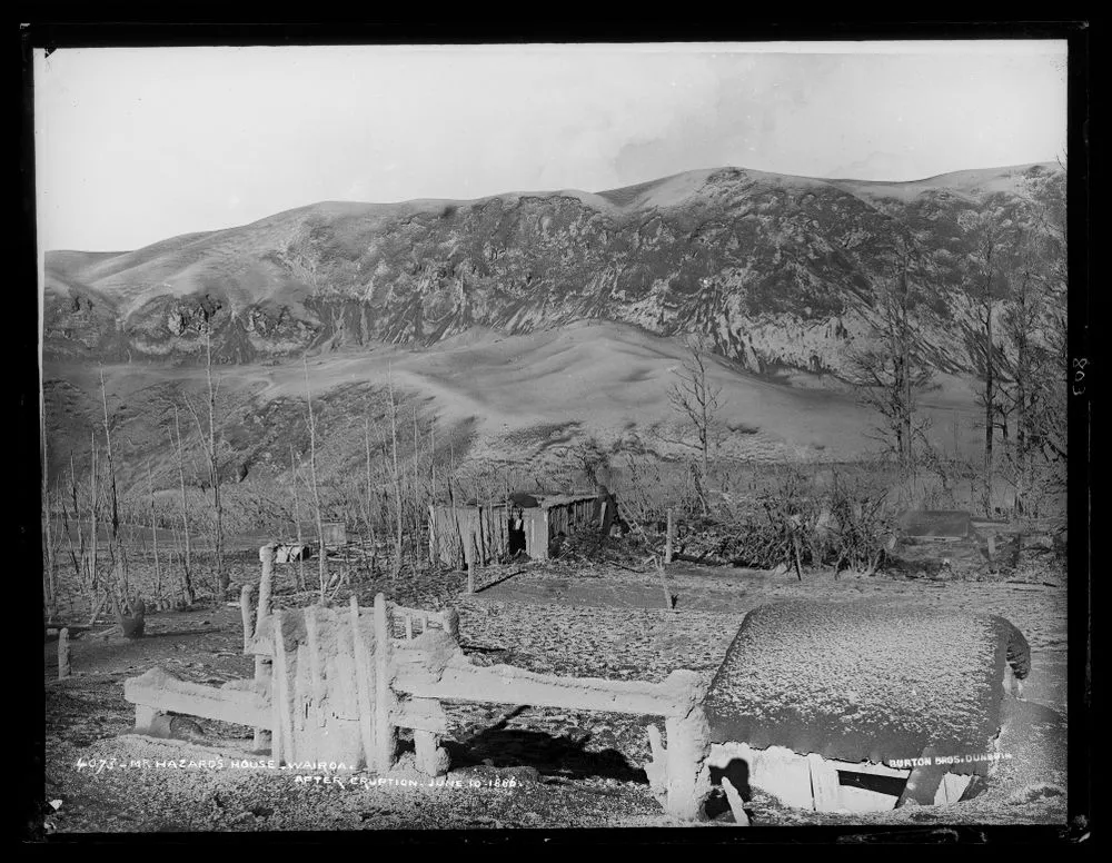
<svg viewBox="0 0 1112 863"><path fill-rule="evenodd" d="M1070 33L28 49L28 839L1086 835Z"/></svg>

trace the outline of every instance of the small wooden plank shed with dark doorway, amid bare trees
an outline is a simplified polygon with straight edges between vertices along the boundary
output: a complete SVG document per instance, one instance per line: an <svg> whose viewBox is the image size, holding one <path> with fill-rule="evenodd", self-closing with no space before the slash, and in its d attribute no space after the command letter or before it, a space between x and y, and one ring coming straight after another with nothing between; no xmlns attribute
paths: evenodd
<svg viewBox="0 0 1112 863"><path fill-rule="evenodd" d="M605 492L516 494L492 504L429 506L429 561L448 566L486 565L524 552L547 561L555 542L575 530L603 528L614 518Z"/></svg>

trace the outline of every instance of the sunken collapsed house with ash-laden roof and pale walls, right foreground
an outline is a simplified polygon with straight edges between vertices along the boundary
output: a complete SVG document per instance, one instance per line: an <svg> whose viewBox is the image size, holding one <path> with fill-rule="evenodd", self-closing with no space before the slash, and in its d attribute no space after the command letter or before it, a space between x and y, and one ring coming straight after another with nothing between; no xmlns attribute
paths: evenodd
<svg viewBox="0 0 1112 863"><path fill-rule="evenodd" d="M956 803L997 762L1030 669L1002 617L891 603L749 612L706 700L713 770L818 812Z"/></svg>

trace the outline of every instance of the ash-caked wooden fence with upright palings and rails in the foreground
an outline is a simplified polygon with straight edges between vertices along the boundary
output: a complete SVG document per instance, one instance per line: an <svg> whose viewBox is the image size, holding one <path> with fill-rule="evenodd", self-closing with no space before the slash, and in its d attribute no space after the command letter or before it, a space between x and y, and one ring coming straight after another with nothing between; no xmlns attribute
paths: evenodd
<svg viewBox="0 0 1112 863"><path fill-rule="evenodd" d="M264 604L254 624L245 602L245 653L256 656L255 680L217 688L152 668L125 683L138 730L170 712L238 722L269 731L280 764L335 762L385 773L396 763L398 728L411 728L418 770L443 775L449 767L440 745L448 734L444 701L663 716L668 745L651 726L646 773L669 813L699 816L709 793L709 728L696 673L676 671L654 684L477 666L459 646L454 611L406 608L383 594L373 608L353 597L346 608L267 614L272 556L272 546L260 553Z"/></svg>

